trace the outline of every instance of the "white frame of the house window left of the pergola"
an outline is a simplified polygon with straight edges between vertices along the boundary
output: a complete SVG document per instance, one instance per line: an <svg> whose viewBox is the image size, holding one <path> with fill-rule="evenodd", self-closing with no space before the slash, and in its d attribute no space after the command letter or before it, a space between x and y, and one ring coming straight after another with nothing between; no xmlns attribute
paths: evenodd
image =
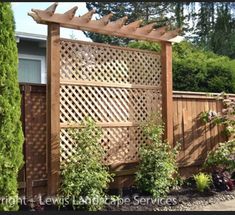
<svg viewBox="0 0 235 215"><path fill-rule="evenodd" d="M42 55L18 54L18 60L40 60L41 62L41 82L39 84L46 84L46 60Z"/></svg>

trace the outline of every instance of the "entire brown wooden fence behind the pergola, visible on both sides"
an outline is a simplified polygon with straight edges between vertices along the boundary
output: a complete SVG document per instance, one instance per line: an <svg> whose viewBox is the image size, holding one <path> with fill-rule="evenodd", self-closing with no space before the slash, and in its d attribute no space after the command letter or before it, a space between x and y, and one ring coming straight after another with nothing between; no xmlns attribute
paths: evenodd
<svg viewBox="0 0 235 215"><path fill-rule="evenodd" d="M25 165L19 174L21 194L32 196L47 193L46 145L46 86L21 84L22 123L25 135ZM216 95L216 94L214 94ZM230 95L235 97L235 95ZM222 101L205 93L174 92L174 144L181 144L178 163L183 176L200 168L207 153L217 143L225 141L222 128L204 125L199 115L202 111L221 111ZM136 163L115 168L117 177L111 187L132 183ZM119 171L121 169L121 171ZM131 176L132 175L132 176Z"/></svg>

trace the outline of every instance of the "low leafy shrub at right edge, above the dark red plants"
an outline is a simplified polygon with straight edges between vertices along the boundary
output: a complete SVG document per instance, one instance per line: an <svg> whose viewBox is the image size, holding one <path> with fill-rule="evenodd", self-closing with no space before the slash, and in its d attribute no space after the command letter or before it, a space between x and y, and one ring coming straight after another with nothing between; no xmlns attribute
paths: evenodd
<svg viewBox="0 0 235 215"><path fill-rule="evenodd" d="M206 168L221 167L224 170L235 169L235 140L220 143L216 150L211 151L204 163Z"/></svg>

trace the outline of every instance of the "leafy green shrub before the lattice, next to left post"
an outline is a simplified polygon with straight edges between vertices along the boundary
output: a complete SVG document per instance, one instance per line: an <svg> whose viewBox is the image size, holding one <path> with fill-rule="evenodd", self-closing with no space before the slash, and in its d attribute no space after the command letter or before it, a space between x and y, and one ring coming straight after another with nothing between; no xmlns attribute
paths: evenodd
<svg viewBox="0 0 235 215"><path fill-rule="evenodd" d="M104 151L99 143L101 129L90 118L86 119L82 126L72 131L76 152L71 161L62 166L60 195L68 197L74 209L95 211L103 207L105 190L112 180L112 175L102 164ZM82 199L94 202L77 205L74 199L77 202Z"/></svg>

